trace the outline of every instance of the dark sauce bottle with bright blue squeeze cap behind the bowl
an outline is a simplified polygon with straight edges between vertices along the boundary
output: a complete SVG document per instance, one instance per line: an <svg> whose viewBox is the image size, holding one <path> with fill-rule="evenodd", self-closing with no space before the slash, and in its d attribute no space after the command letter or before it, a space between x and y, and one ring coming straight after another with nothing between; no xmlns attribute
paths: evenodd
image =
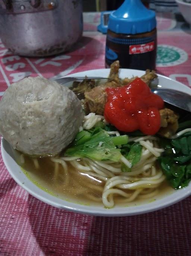
<svg viewBox="0 0 191 256"><path fill-rule="evenodd" d="M106 67L119 60L122 68L155 69L156 50L155 12L148 10L141 0L125 0L109 16Z"/></svg>

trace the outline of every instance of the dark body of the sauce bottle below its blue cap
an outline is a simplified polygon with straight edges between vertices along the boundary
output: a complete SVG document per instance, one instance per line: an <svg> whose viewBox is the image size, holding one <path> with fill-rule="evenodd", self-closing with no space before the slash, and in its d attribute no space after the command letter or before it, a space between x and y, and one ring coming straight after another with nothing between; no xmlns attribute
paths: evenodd
<svg viewBox="0 0 191 256"><path fill-rule="evenodd" d="M156 28L141 34L116 34L107 31L106 67L119 60L128 69L155 69L157 50Z"/></svg>

